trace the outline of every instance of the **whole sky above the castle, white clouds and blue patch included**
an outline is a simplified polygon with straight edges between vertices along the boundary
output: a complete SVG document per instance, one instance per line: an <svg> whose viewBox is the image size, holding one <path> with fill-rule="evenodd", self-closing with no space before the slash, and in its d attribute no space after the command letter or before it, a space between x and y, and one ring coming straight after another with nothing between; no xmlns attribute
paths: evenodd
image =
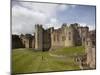
<svg viewBox="0 0 100 75"><path fill-rule="evenodd" d="M12 0L12 34L33 34L35 24L60 28L63 23L79 23L95 29L95 6L36 3Z"/></svg>

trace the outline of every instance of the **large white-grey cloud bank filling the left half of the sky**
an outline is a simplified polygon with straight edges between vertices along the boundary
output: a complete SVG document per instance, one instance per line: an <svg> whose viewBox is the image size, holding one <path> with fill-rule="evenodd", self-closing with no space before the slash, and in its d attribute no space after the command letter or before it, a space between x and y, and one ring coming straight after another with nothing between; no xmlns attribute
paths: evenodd
<svg viewBox="0 0 100 75"><path fill-rule="evenodd" d="M57 5L32 2L15 3L12 8L12 33L33 33L35 24L51 24L56 18ZM20 5L19 5L20 4ZM55 19L55 21L57 21Z"/></svg>

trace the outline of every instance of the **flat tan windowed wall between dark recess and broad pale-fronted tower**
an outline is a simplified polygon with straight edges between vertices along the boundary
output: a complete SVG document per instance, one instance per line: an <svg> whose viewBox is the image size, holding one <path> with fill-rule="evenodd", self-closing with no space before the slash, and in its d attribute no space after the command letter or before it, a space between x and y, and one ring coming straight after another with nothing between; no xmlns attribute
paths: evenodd
<svg viewBox="0 0 100 75"><path fill-rule="evenodd" d="M52 33L51 33L51 47L52 48L58 48L58 47L64 47L64 44L65 44L65 35L63 33L63 30L62 29L57 29L57 30L54 30Z"/></svg>

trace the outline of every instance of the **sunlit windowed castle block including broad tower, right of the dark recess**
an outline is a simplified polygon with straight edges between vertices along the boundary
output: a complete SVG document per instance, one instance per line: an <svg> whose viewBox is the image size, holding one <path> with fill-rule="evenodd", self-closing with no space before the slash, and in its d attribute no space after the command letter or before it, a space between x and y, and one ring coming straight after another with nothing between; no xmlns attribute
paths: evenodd
<svg viewBox="0 0 100 75"><path fill-rule="evenodd" d="M78 24L69 27L63 24L61 28L53 29L51 32L51 48L79 46L81 43Z"/></svg>

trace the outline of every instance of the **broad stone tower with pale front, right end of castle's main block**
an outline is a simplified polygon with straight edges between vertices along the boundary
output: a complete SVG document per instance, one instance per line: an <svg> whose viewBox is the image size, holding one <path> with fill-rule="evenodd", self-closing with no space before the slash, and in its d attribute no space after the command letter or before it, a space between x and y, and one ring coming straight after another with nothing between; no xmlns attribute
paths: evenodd
<svg viewBox="0 0 100 75"><path fill-rule="evenodd" d="M74 23L65 28L65 47L78 46L81 44L81 38L78 31L79 24Z"/></svg>

